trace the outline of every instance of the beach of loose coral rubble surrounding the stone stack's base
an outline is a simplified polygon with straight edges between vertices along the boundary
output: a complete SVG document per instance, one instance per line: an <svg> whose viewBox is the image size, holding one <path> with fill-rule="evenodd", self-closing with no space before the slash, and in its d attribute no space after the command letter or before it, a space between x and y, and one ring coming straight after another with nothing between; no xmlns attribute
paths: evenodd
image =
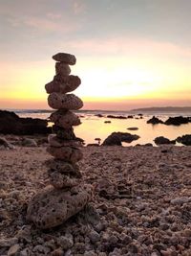
<svg viewBox="0 0 191 256"><path fill-rule="evenodd" d="M191 255L191 147L84 147L95 198L64 224L26 221L49 184L45 147L0 151L0 255Z"/></svg>

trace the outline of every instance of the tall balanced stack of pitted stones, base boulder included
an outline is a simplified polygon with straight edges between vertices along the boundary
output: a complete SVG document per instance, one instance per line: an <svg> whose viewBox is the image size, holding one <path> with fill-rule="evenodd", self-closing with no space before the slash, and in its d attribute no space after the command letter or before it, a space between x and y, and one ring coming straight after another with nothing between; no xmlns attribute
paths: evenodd
<svg viewBox="0 0 191 256"><path fill-rule="evenodd" d="M49 94L48 104L57 109L50 116L54 134L49 135L47 149L53 156L46 162L51 186L32 198L27 212L27 219L42 229L63 223L82 210L92 198L92 186L84 184L76 164L83 155L73 126L78 126L80 120L71 110L81 108L83 103L74 94L68 94L81 83L77 76L70 75L69 65L74 65L76 58L59 53L53 59L57 61L56 74L53 81L45 85Z"/></svg>

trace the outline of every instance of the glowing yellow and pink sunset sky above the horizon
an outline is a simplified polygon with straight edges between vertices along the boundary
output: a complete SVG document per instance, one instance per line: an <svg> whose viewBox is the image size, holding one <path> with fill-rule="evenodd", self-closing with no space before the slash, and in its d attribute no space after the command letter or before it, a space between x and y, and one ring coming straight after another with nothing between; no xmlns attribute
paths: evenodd
<svg viewBox="0 0 191 256"><path fill-rule="evenodd" d="M0 0L0 108L49 108L58 52L85 109L191 105L190 0Z"/></svg>

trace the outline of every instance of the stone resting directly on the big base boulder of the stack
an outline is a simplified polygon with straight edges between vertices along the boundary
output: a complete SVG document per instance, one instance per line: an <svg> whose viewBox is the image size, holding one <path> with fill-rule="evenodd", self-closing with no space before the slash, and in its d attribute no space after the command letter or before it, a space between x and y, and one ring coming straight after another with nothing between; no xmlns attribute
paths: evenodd
<svg viewBox="0 0 191 256"><path fill-rule="evenodd" d="M79 184L79 178L75 178L73 175L63 175L58 171L52 172L49 170L50 183L55 189L70 188Z"/></svg>

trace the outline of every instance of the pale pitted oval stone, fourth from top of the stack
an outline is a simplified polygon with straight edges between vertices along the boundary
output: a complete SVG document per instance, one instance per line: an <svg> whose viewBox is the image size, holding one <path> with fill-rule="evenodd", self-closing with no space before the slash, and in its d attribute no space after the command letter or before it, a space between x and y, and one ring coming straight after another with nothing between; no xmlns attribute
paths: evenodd
<svg viewBox="0 0 191 256"><path fill-rule="evenodd" d="M83 102L74 94L61 94L53 92L48 97L48 104L53 109L73 109L77 110L83 106Z"/></svg>

